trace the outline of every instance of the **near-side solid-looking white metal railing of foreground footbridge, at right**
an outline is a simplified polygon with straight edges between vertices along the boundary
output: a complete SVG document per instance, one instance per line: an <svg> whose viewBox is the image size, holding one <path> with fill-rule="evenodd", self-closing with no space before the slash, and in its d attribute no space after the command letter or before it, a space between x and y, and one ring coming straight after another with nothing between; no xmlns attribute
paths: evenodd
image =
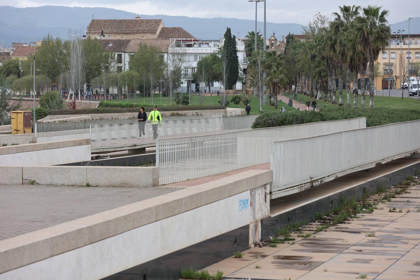
<svg viewBox="0 0 420 280"><path fill-rule="evenodd" d="M420 120L271 144L272 193L420 149ZM315 149L314 149L315 147ZM333 179L331 178L330 179Z"/></svg>

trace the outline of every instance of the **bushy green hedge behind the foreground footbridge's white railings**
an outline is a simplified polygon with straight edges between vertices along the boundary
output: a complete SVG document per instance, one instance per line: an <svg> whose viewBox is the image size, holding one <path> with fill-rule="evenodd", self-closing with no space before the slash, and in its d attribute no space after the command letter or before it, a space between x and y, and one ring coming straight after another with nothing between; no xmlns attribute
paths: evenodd
<svg viewBox="0 0 420 280"><path fill-rule="evenodd" d="M291 126L302 123L315 123L326 120L345 120L366 117L366 126L382 126L420 119L420 110L390 109L386 107L354 109L334 107L320 111L294 111L291 113L264 113L252 124L252 128Z"/></svg>

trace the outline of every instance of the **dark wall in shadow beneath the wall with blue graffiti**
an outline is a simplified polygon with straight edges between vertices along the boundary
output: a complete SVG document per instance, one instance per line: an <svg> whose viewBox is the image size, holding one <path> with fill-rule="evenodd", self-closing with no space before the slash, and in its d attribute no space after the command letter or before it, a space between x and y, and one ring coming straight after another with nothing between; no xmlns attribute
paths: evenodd
<svg viewBox="0 0 420 280"><path fill-rule="evenodd" d="M248 249L248 237L249 225L246 225L103 279L176 280L180 277L181 267L199 270L232 256L236 251Z"/></svg>

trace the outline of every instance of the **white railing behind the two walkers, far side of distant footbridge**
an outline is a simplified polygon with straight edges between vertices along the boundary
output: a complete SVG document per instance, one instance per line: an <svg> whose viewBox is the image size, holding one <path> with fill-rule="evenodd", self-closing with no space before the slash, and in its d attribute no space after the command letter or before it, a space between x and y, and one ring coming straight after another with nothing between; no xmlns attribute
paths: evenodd
<svg viewBox="0 0 420 280"><path fill-rule="evenodd" d="M163 120L190 120L201 118L221 118L221 114L212 115L190 115L190 116L171 116L162 117ZM110 125L110 124L137 123L136 118L128 119L108 119L108 120L85 120L74 122L37 122L37 141L60 141L78 138L90 138L91 125Z"/></svg>

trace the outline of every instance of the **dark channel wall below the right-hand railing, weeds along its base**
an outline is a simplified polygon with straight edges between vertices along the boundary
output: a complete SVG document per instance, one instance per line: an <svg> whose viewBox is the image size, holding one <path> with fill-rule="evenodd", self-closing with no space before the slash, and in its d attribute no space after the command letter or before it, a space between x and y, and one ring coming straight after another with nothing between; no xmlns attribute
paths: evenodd
<svg viewBox="0 0 420 280"><path fill-rule="evenodd" d="M395 184L400 183L401 181L404 181L407 176L414 175L415 170L419 168L420 163L417 163L409 167L405 167L401 170L396 170L387 175L383 175L382 177L373 179L371 181L367 181L353 188L341 191L337 194L319 199L310 204L303 205L302 207L293 209L286 213L274 217L267 217L261 221L261 240L267 240L270 236L275 236L278 227L283 228L288 224L293 224L299 221L309 222L314 219L316 212L325 213L328 211L328 209L332 210L335 206L340 204L340 195L342 195L346 200L357 199L359 197L361 198L365 191L367 191L367 194L372 194L380 185L389 188ZM369 169L358 172L369 172ZM346 176L354 176L354 174L355 173L352 173ZM345 178L346 176L341 178ZM310 191L311 190L309 189L305 192ZM301 195L302 193L299 194ZM299 194L284 196L281 199L293 199L294 196L298 196Z"/></svg>

